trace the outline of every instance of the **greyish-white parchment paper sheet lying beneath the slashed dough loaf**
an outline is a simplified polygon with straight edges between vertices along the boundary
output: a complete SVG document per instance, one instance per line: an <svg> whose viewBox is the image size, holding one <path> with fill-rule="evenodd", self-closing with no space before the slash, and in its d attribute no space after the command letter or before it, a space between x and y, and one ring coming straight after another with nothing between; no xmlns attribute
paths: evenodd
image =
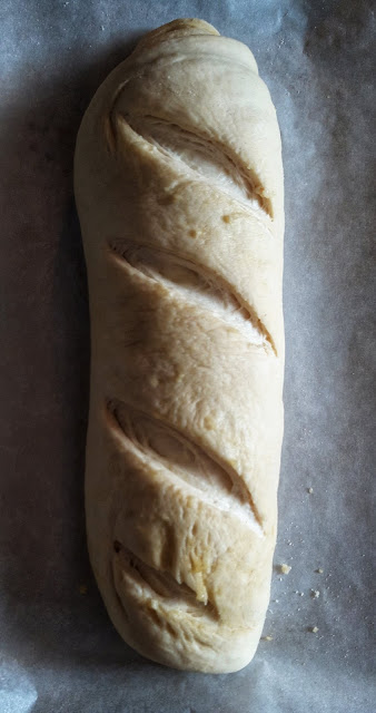
<svg viewBox="0 0 376 713"><path fill-rule="evenodd" d="M136 39L195 16L254 51L277 107L286 174L286 434L264 632L273 639L227 676L170 671L122 643L83 527L89 323L75 138L95 89ZM360 0L2 0L4 713L375 710L373 37L372 2Z"/></svg>

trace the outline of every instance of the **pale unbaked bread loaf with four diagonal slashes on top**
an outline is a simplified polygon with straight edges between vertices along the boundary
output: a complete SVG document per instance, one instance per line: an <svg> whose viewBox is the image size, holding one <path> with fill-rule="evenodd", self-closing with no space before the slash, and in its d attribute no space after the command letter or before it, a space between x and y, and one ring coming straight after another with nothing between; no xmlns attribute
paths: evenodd
<svg viewBox="0 0 376 713"><path fill-rule="evenodd" d="M201 20L139 42L80 127L86 512L121 636L237 671L268 606L283 438L283 168L247 47Z"/></svg>

